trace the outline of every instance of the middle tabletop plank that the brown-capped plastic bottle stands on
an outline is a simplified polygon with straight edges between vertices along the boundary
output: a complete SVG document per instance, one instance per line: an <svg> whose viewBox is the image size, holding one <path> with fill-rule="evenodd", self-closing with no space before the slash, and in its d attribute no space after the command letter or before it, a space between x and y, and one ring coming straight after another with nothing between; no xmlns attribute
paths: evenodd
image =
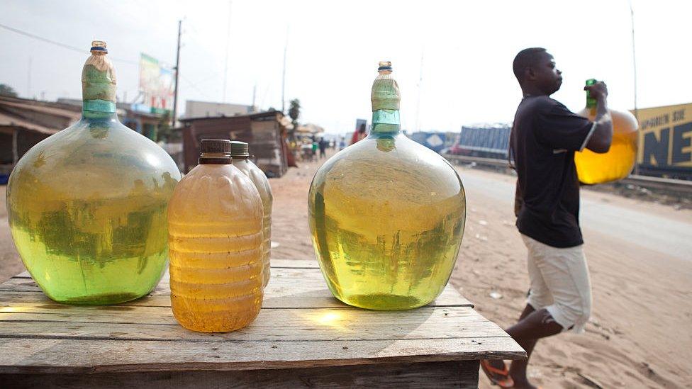
<svg viewBox="0 0 692 389"><path fill-rule="evenodd" d="M425 307L397 312L355 308L262 310L247 327L223 334L184 329L177 325L169 308L109 308L118 309L71 307L53 310L40 305L0 308L0 338L317 342L507 336L495 323L468 307Z"/></svg>

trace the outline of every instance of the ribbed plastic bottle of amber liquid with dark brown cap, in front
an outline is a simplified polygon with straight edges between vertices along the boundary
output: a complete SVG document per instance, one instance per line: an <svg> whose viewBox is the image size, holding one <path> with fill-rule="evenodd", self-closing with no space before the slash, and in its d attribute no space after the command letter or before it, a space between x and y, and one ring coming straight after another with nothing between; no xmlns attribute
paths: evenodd
<svg viewBox="0 0 692 389"><path fill-rule="evenodd" d="M171 307L187 329L235 331L262 307L262 199L230 141L200 146L168 206Z"/></svg>

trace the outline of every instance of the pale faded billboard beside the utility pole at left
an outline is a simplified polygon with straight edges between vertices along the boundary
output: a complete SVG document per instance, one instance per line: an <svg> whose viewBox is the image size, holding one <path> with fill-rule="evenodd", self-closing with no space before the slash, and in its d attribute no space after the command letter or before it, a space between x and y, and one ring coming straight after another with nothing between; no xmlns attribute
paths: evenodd
<svg viewBox="0 0 692 389"><path fill-rule="evenodd" d="M154 57L140 54L140 92L145 105L152 111L171 109L173 106L173 70L162 66Z"/></svg>

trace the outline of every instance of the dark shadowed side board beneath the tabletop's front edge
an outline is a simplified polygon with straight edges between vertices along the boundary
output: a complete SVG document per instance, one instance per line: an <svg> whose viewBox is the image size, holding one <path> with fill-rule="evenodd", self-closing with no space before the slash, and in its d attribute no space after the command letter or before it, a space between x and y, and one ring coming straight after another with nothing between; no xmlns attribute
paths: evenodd
<svg viewBox="0 0 692 389"><path fill-rule="evenodd" d="M0 375L3 388L478 388L478 361L252 371Z"/></svg>

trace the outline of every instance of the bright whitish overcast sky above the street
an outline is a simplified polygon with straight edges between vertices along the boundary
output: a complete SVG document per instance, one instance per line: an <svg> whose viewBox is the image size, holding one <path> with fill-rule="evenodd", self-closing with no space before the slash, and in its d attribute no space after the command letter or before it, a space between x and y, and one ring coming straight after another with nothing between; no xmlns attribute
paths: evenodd
<svg viewBox="0 0 692 389"><path fill-rule="evenodd" d="M691 102L692 1L632 0L632 8L637 105ZM393 63L404 128L510 122L521 98L511 63L533 46L555 56L564 83L554 98L572 110L584 106L591 77L608 83L611 108L634 106L627 0L233 0L230 11L229 1L2 0L0 24L84 47L84 54L0 28L0 83L23 97L80 98L86 50L101 39L119 59L118 96L131 100L140 52L175 62L181 18L180 111L187 99L223 101L226 47L225 102L250 104L257 86L257 105L280 109L286 40L286 108L299 98L301 121L333 133L370 120L379 60Z"/></svg>

